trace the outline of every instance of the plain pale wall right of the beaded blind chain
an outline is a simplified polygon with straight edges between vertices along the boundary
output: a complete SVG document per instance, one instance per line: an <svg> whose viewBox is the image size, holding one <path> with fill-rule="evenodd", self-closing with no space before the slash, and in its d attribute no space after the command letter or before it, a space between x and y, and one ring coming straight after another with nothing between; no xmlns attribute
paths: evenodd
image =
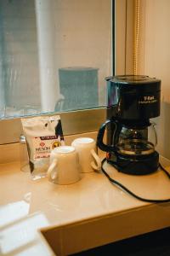
<svg viewBox="0 0 170 256"><path fill-rule="evenodd" d="M158 150L170 158L170 1L141 0L139 73L161 79Z"/></svg>

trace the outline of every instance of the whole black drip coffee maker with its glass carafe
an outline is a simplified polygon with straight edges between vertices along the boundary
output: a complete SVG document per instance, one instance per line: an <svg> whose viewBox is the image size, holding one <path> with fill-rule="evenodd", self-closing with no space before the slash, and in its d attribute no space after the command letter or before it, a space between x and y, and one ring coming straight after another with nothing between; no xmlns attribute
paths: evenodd
<svg viewBox="0 0 170 256"><path fill-rule="evenodd" d="M161 80L143 75L106 78L107 121L101 125L98 147L120 172L143 175L155 172L159 154L155 124L160 115ZM107 143L103 142L107 128Z"/></svg>

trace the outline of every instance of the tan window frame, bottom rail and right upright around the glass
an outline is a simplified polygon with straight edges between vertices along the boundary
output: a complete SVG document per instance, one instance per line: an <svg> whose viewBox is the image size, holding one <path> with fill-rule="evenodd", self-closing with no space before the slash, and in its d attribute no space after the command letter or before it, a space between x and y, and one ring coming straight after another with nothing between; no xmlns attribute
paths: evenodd
<svg viewBox="0 0 170 256"><path fill-rule="evenodd" d="M133 0L112 0L111 12L111 75L129 73L133 68L133 44L127 44L127 42L131 42L133 38ZM114 24L115 26L113 26ZM115 42L115 44L113 44L113 42ZM106 119L106 108L83 109L58 114L61 118L64 134L72 135L98 131L99 125ZM0 145L18 143L21 133L22 127L20 118L0 120Z"/></svg>

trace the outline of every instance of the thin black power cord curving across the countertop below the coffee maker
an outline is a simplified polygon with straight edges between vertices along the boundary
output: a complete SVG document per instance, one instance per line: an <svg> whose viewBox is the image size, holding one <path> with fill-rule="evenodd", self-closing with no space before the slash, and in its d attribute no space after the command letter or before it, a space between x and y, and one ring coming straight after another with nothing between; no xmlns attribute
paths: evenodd
<svg viewBox="0 0 170 256"><path fill-rule="evenodd" d="M160 202L170 202L170 198L167 199L146 199L143 198L139 195L135 195L131 190L127 189L124 185L122 185L122 183L117 182L115 179L113 179L107 172L105 172L104 169L104 163L106 161L106 158L104 160L102 160L101 162L101 171L105 174L105 176L111 181L111 183L114 183L116 186L122 188L123 190L125 190L129 195L132 195L133 197L135 197L136 199L139 199L140 201L145 201L145 202L152 202L152 203L160 203ZM109 163L108 163L109 164ZM165 168L163 166L161 166L161 164L159 164L159 167L161 168L161 170L163 172L165 172L165 174L167 175L167 177L170 178L170 174L167 172L167 170L165 170Z"/></svg>

